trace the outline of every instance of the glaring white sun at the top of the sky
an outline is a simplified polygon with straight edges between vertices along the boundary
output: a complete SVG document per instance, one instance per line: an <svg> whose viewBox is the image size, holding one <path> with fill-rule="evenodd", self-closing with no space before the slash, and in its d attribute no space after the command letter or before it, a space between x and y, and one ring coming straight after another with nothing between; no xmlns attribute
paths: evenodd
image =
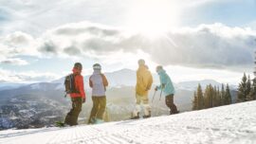
<svg viewBox="0 0 256 144"><path fill-rule="evenodd" d="M127 14L126 27L157 37L177 27L179 9L172 0L137 0Z"/></svg>

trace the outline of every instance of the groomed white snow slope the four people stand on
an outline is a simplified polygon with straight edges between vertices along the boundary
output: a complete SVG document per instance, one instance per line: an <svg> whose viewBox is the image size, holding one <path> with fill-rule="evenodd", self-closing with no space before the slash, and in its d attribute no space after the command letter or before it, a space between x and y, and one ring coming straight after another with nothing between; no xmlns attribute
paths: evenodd
<svg viewBox="0 0 256 144"><path fill-rule="evenodd" d="M65 128L7 130L3 144L255 144L256 101L175 116L80 125Z"/></svg>

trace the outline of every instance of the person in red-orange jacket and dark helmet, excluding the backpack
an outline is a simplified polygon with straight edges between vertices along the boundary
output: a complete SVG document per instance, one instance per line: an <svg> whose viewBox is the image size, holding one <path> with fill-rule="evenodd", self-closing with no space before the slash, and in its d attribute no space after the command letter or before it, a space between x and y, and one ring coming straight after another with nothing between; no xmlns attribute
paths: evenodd
<svg viewBox="0 0 256 144"><path fill-rule="evenodd" d="M72 101L72 108L64 118L64 124L70 126L78 125L78 117L82 111L82 103L84 103L86 99L83 88L83 77L81 75L82 63L75 63L72 71L75 80L75 92L72 92L69 95Z"/></svg>

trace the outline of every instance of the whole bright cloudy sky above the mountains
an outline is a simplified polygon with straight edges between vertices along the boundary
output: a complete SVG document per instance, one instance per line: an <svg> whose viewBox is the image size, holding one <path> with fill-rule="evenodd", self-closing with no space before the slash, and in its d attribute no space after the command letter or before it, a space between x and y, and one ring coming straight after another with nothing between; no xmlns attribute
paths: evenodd
<svg viewBox="0 0 256 144"><path fill-rule="evenodd" d="M150 70L238 84L254 68L256 0L0 0L0 82Z"/></svg>

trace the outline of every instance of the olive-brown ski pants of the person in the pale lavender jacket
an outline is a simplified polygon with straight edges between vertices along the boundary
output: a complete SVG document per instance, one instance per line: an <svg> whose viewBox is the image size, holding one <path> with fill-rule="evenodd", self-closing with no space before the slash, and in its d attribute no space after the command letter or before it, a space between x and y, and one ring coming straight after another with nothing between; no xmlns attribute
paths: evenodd
<svg viewBox="0 0 256 144"><path fill-rule="evenodd" d="M106 97L92 97L93 108L91 110L91 115L89 117L88 123L90 123L92 117L103 119L103 114L106 109Z"/></svg>

